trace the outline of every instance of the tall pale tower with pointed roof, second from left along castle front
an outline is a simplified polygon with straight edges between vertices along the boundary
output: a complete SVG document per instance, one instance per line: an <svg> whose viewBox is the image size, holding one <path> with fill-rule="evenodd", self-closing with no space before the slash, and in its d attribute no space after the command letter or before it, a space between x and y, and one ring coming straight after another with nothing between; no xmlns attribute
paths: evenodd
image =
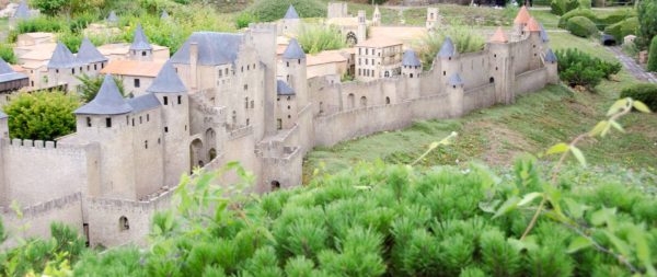
<svg viewBox="0 0 657 277"><path fill-rule="evenodd" d="M187 89L171 61L168 61L146 91L153 93L162 106L164 185L172 187L178 183L182 172L191 170L192 164Z"/></svg>

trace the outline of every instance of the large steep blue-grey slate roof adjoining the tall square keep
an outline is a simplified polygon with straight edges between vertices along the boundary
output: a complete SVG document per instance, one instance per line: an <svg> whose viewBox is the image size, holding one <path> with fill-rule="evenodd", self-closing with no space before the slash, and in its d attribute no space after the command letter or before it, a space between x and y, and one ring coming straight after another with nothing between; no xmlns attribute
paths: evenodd
<svg viewBox="0 0 657 277"><path fill-rule="evenodd" d="M192 43L198 45L198 65L219 66L233 64L242 44L242 34L216 32L196 32L171 57L173 64L189 65L189 48Z"/></svg>

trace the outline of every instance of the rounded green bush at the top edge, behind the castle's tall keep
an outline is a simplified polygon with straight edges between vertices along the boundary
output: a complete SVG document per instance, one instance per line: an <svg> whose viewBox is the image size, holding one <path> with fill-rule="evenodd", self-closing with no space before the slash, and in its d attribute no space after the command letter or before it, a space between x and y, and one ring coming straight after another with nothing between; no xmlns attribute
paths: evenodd
<svg viewBox="0 0 657 277"><path fill-rule="evenodd" d="M292 4L300 18L322 18L326 15L326 4L319 0L256 0L246 12L264 22L283 19Z"/></svg>

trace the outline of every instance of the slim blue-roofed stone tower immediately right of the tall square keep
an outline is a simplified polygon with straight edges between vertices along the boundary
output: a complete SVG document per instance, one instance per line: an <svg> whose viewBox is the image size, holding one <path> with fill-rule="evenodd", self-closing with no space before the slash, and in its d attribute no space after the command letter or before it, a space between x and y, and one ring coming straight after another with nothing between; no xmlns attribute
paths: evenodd
<svg viewBox="0 0 657 277"><path fill-rule="evenodd" d="M286 73L286 82L292 86L297 99L297 111L301 111L308 104L308 78L306 78L306 53L296 38L283 53L283 62Z"/></svg>

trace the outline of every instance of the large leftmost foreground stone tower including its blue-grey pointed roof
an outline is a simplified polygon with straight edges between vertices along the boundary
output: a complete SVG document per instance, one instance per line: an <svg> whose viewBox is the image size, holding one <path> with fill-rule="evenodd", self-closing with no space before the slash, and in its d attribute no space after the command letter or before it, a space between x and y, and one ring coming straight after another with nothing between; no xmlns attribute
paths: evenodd
<svg viewBox="0 0 657 277"><path fill-rule="evenodd" d="M111 74L106 74L96 96L76 109L80 138L100 145L100 184L90 184L95 197L136 199L132 136L132 107L124 100Z"/></svg>

